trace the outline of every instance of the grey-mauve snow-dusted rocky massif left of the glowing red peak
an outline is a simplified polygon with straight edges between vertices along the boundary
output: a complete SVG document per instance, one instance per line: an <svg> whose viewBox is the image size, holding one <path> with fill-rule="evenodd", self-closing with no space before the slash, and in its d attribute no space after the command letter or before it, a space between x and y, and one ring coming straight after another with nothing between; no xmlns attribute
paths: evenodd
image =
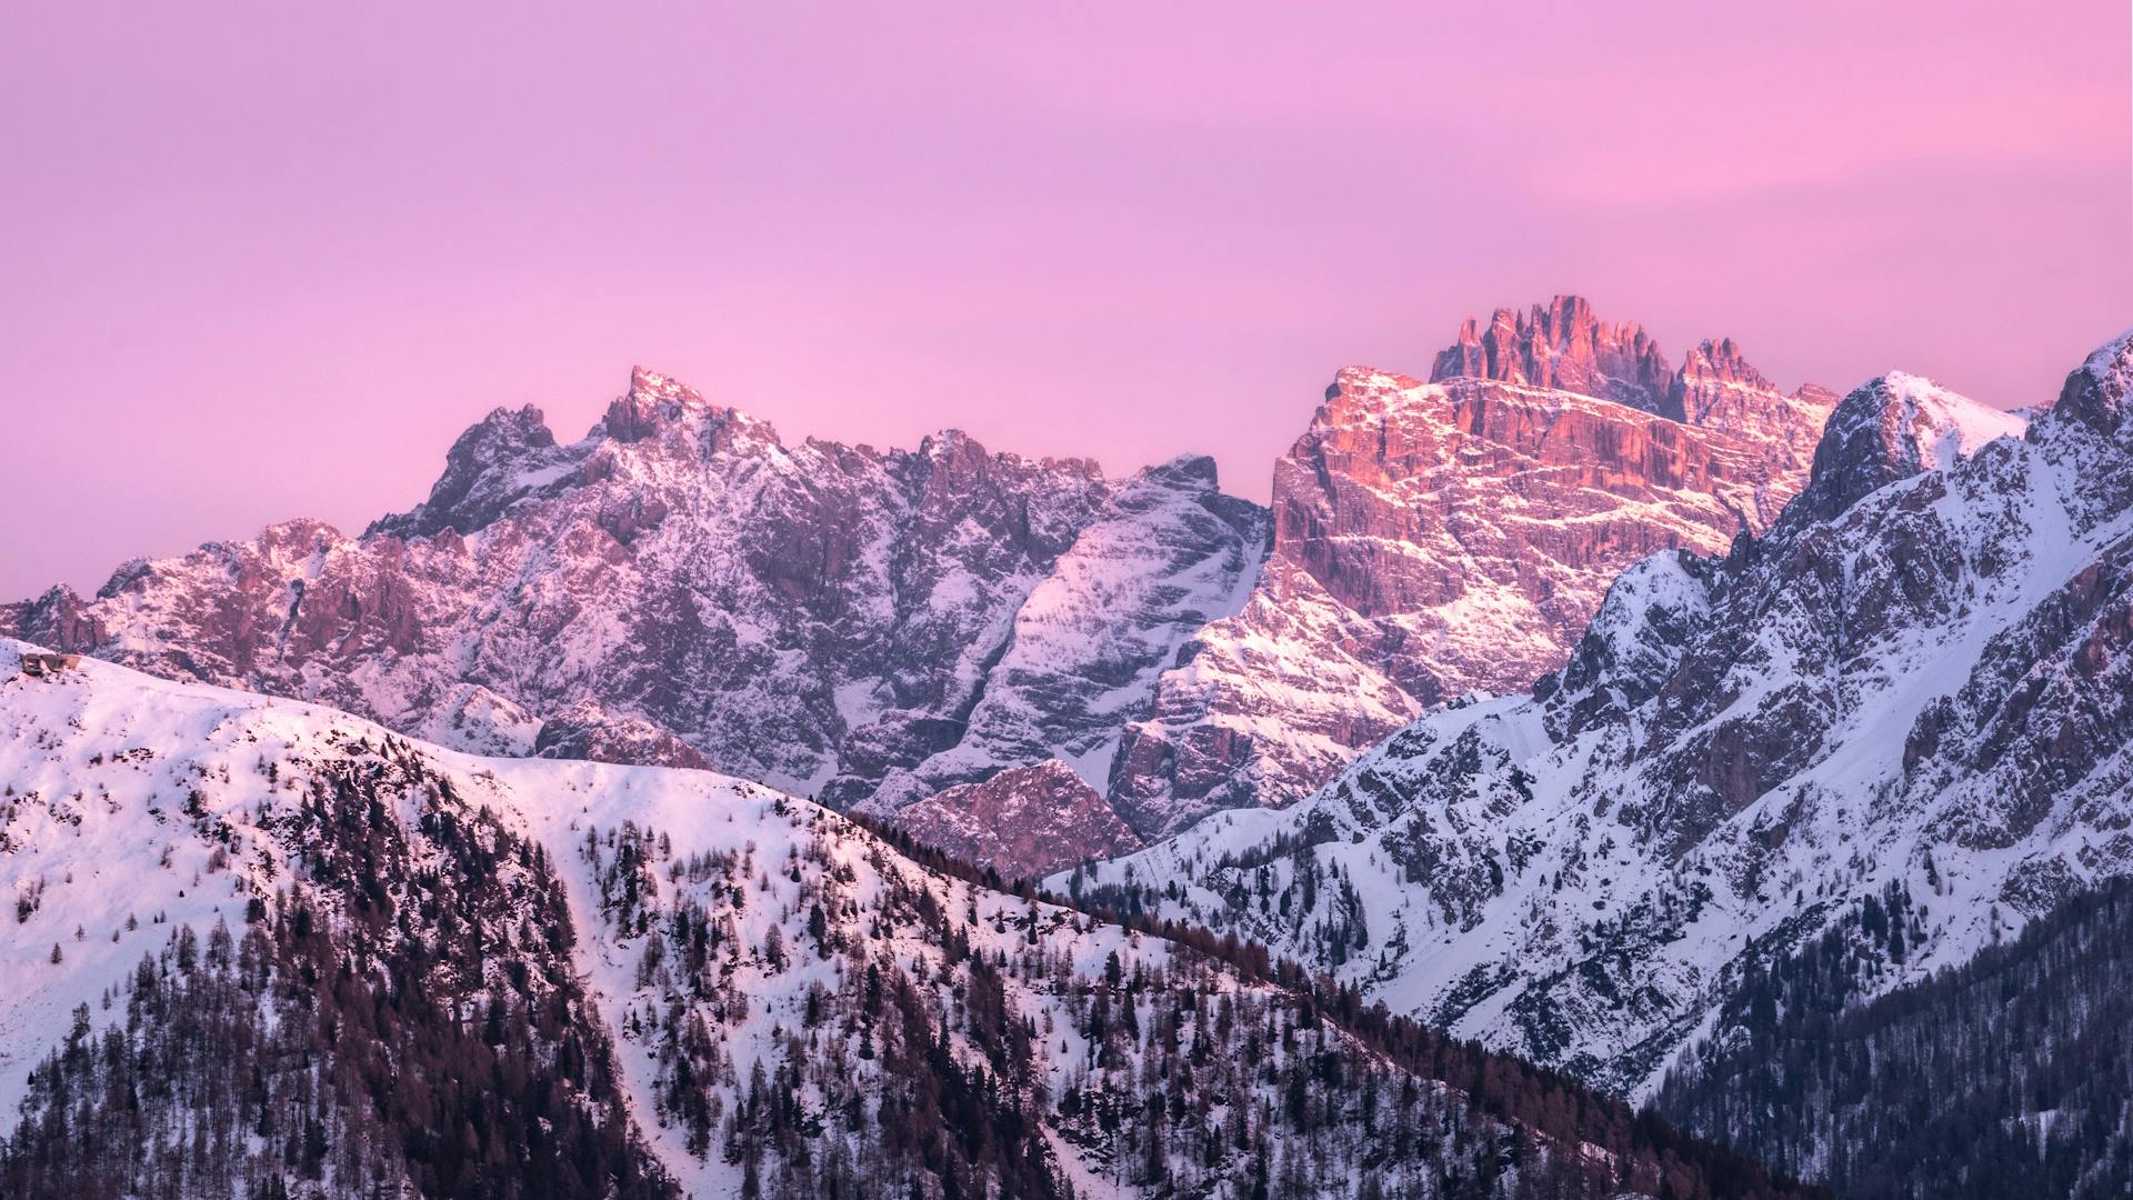
<svg viewBox="0 0 2133 1200"><path fill-rule="evenodd" d="M0 626L486 754L710 764L836 803L887 779L889 809L1054 756L1101 779L1263 547L1207 459L1109 480L956 431L787 446L638 369L567 446L538 410L491 414L363 536L288 521Z"/></svg>

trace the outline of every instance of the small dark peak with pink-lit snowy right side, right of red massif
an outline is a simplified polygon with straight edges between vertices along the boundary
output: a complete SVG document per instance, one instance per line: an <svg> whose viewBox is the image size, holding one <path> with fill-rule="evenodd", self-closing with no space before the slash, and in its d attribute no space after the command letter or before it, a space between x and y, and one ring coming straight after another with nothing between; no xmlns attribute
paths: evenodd
<svg viewBox="0 0 2133 1200"><path fill-rule="evenodd" d="M1866 380L1830 412L1807 491L1792 502L1785 523L1834 521L1866 495L1913 474L1943 470L1994 438L2020 436L2024 425L2014 412L1913 374L1890 372Z"/></svg>

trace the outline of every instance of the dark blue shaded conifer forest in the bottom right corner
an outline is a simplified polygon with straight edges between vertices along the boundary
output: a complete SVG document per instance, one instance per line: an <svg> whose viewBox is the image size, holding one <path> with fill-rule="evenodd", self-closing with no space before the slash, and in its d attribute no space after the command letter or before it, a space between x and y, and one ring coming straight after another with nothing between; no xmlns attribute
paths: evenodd
<svg viewBox="0 0 2133 1200"><path fill-rule="evenodd" d="M1930 897L1924 897L1930 901ZM1758 972L1657 1106L1854 1200L2133 1189L2133 882L2065 901L1971 963L1854 1004L1905 954L1911 897Z"/></svg>

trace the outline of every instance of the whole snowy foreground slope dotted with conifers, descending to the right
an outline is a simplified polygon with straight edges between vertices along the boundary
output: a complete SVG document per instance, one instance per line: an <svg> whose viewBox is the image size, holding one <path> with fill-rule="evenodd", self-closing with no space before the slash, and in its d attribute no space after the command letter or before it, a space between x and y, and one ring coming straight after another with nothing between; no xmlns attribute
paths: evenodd
<svg viewBox="0 0 2133 1200"><path fill-rule="evenodd" d="M9 1196L1781 1196L708 771L0 643Z"/></svg>

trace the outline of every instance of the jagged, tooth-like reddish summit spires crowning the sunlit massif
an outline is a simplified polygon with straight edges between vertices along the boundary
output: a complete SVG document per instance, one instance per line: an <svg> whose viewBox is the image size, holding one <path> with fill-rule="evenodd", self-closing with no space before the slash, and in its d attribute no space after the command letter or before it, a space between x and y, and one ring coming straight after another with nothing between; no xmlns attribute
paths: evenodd
<svg viewBox="0 0 2133 1200"><path fill-rule="evenodd" d="M1602 322L1591 301L1559 295L1525 314L1495 310L1487 331L1472 318L1438 354L1431 382L1489 378L1598 395L1645 412L1666 410L1672 367L1657 340L1636 322Z"/></svg>

